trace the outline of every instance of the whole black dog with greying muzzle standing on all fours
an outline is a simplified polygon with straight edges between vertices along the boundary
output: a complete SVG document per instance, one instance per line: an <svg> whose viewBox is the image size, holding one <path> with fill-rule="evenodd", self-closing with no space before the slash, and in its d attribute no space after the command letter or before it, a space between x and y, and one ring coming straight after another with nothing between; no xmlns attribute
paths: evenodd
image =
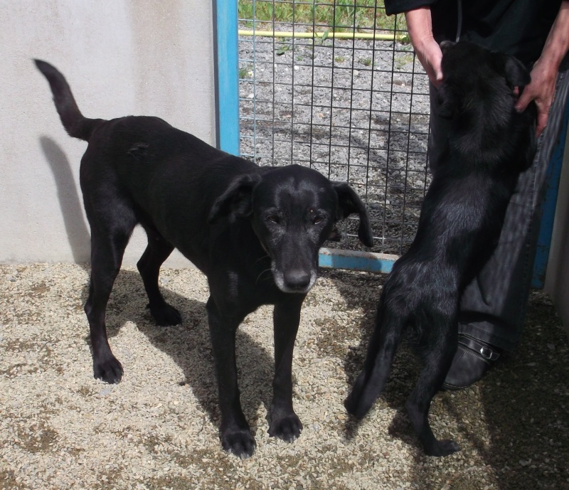
<svg viewBox="0 0 569 490"><path fill-rule="evenodd" d="M223 447L252 454L255 439L241 410L235 331L261 304L274 304L272 436L292 441L302 424L292 408L292 351L304 297L317 275L319 247L334 223L358 213L358 236L372 244L363 203L346 183L302 166L259 167L225 154L157 117L106 121L80 113L58 70L36 60L60 119L88 142L80 184L91 228L89 320L95 378L118 383L121 363L105 329L105 309L124 248L140 223L148 247L138 269L159 325L181 322L158 287L174 247L208 277L208 321L218 377Z"/></svg>

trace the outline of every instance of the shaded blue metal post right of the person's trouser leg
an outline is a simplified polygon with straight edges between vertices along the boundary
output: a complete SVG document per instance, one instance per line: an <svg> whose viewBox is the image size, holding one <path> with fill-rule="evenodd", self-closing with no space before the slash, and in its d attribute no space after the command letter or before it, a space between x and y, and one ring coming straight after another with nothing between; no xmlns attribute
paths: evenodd
<svg viewBox="0 0 569 490"><path fill-rule="evenodd" d="M541 225L539 228L536 258L533 261L533 275L531 277L531 287L535 289L543 289L543 285L546 282L549 250L551 248L551 234L553 233L553 220L555 219L555 206L557 205L559 178L561 167L563 166L563 153L565 152L568 121L569 104L565 107L559 140L557 144L555 144L555 149L553 149L553 154L551 155L547 169L546 197L541 207Z"/></svg>

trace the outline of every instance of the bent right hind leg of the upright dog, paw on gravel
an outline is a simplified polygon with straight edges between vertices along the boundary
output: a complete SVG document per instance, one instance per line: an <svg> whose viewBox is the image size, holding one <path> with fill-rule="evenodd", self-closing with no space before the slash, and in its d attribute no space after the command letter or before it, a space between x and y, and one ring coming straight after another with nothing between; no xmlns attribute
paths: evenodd
<svg viewBox="0 0 569 490"><path fill-rule="evenodd" d="M429 351L425 353L419 380L405 408L425 454L447 456L460 447L453 440L437 440L428 417L432 398L442 387L457 350L457 326L453 314L440 314L440 318L431 319L423 328L429 338L422 339L422 343L429 346Z"/></svg>

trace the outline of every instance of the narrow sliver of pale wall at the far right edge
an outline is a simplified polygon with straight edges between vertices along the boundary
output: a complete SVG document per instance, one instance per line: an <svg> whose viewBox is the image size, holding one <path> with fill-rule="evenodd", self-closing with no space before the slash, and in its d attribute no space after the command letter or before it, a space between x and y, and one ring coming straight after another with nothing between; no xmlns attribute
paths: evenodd
<svg viewBox="0 0 569 490"><path fill-rule="evenodd" d="M545 290L569 334L569 134L565 143Z"/></svg>

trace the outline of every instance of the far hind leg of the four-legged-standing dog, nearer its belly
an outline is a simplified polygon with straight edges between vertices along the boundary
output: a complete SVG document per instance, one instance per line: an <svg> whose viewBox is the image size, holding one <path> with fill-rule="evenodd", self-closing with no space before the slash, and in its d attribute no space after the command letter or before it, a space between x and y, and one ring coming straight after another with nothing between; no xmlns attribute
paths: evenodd
<svg viewBox="0 0 569 490"><path fill-rule="evenodd" d="M166 303L158 287L160 266L174 250L174 245L165 240L156 229L144 226L144 230L147 232L148 245L137 267L148 295L147 308L150 309L157 325L177 325L182 321L180 312Z"/></svg>

